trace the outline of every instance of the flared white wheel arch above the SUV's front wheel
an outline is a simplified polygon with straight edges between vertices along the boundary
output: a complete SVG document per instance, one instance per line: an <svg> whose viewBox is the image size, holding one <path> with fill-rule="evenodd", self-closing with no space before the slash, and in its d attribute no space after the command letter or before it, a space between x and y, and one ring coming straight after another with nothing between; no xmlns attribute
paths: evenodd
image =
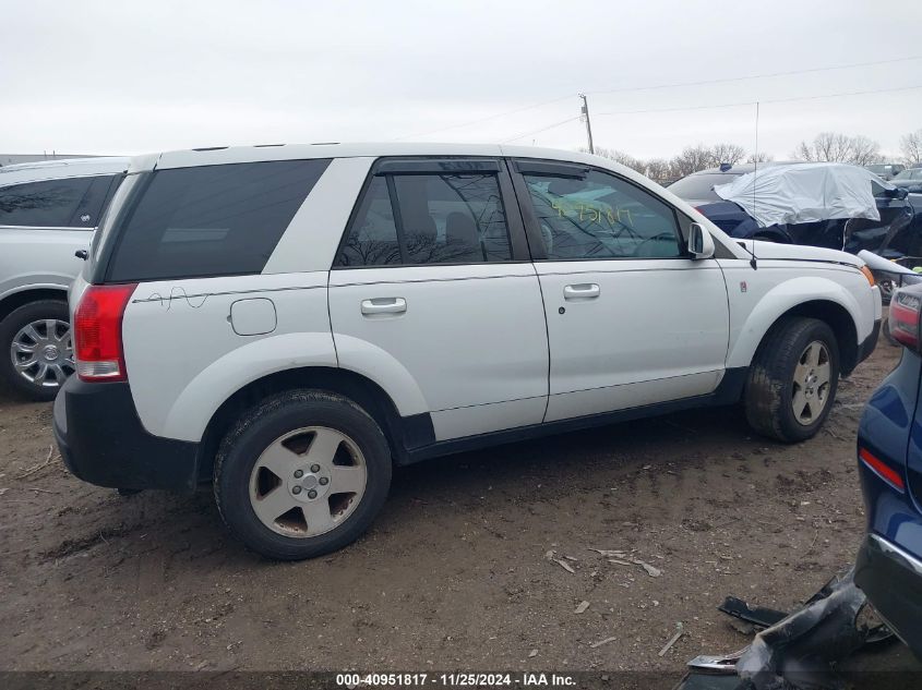
<svg viewBox="0 0 922 690"><path fill-rule="evenodd" d="M765 334L775 322L792 308L809 302L831 302L845 308L854 324L859 342L862 334L873 327L873 324L869 323L867 328L864 328L862 324L867 319L862 318L861 305L843 286L816 276L791 278L766 292L735 329L735 340L727 359L728 368L749 366Z"/></svg>

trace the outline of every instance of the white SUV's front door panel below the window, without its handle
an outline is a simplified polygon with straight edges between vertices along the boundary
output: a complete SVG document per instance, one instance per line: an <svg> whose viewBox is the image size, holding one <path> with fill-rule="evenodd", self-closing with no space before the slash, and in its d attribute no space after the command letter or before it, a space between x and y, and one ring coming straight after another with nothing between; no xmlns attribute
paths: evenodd
<svg viewBox="0 0 922 690"><path fill-rule="evenodd" d="M727 356L729 323L716 261L536 266L551 350L546 421L714 391ZM566 299L566 287L574 285L598 286L598 296Z"/></svg>

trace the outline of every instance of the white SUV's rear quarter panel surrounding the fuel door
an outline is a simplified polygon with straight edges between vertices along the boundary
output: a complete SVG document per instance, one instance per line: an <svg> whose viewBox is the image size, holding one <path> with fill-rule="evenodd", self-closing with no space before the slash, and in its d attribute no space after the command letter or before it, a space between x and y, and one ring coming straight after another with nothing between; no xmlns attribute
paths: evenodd
<svg viewBox="0 0 922 690"><path fill-rule="evenodd" d="M326 273L201 278L140 285L122 334L131 392L144 427L201 440L220 404L247 384L299 366L336 366ZM238 336L231 304L271 300L274 331Z"/></svg>

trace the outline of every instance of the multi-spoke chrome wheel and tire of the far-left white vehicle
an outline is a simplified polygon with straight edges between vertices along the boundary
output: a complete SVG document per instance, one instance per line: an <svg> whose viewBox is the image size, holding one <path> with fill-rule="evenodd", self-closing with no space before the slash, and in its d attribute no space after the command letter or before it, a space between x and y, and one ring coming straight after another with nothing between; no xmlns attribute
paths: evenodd
<svg viewBox="0 0 922 690"><path fill-rule="evenodd" d="M17 396L53 400L73 371L65 302L29 302L0 322L0 378Z"/></svg>

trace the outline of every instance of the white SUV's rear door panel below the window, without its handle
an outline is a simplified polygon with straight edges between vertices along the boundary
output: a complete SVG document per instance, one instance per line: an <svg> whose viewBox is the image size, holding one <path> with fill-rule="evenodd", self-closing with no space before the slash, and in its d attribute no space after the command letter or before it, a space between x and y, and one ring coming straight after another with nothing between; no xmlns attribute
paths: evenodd
<svg viewBox="0 0 922 690"><path fill-rule="evenodd" d="M391 298L406 311L362 313L362 301ZM376 353L375 367L416 382L436 439L541 422L548 337L530 264L335 269L330 314L340 366L374 379L366 352L386 353L394 363Z"/></svg>

